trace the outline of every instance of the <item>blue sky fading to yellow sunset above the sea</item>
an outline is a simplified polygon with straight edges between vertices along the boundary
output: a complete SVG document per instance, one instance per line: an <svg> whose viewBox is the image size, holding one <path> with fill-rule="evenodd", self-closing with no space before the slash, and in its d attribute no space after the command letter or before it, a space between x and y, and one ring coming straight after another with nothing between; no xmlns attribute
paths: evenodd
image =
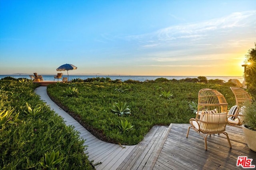
<svg viewBox="0 0 256 170"><path fill-rule="evenodd" d="M0 0L0 74L242 76L254 42L255 0Z"/></svg>

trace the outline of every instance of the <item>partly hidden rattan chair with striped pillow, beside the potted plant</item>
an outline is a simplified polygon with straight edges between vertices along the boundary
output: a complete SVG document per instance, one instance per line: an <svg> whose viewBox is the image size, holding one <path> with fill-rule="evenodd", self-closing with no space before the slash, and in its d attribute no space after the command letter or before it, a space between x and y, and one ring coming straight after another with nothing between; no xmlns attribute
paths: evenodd
<svg viewBox="0 0 256 170"><path fill-rule="evenodd" d="M230 87L236 97L236 105L228 111L228 124L241 127L244 121L244 108L246 102L252 102L250 95L239 87ZM242 128L242 127L241 127Z"/></svg>

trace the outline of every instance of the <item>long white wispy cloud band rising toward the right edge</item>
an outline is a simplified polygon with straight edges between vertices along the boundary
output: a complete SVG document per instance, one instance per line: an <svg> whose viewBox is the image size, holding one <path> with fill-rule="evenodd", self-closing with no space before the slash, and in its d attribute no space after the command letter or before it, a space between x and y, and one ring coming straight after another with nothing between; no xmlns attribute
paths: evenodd
<svg viewBox="0 0 256 170"><path fill-rule="evenodd" d="M128 41L137 41L144 48L171 45L174 42L178 43L181 39L183 43L188 43L184 39L188 41L209 39L220 35L222 32L230 32L232 34L232 29L251 27L253 24L256 27L255 18L256 10L236 12L222 18L174 25L142 35L126 36L125 39Z"/></svg>

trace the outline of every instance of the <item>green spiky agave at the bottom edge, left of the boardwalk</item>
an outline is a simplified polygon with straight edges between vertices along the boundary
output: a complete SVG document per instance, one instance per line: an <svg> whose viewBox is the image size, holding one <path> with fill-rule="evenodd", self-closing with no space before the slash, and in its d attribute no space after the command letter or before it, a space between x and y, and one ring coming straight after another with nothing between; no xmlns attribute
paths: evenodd
<svg viewBox="0 0 256 170"><path fill-rule="evenodd" d="M45 158L44 158L45 162L40 162L41 166L44 169L49 168L49 169L57 170L55 166L60 164L60 162L64 159L63 157L60 157L59 154L60 154L59 151L55 153L54 150L52 151L51 154L48 154L48 153L45 154Z"/></svg>

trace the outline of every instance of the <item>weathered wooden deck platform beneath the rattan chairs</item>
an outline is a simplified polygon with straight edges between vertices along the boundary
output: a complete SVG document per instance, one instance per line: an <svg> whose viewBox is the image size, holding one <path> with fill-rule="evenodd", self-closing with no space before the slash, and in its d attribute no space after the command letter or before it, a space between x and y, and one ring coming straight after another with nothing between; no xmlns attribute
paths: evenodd
<svg viewBox="0 0 256 170"><path fill-rule="evenodd" d="M229 148L226 136L220 134L208 137L208 150L204 150L204 139L194 130L190 129L186 138L188 126L172 125L153 169L240 170L243 168L236 166L238 156L248 156L253 159L252 164L256 165L256 152L248 148L241 128L226 127L232 149Z"/></svg>

